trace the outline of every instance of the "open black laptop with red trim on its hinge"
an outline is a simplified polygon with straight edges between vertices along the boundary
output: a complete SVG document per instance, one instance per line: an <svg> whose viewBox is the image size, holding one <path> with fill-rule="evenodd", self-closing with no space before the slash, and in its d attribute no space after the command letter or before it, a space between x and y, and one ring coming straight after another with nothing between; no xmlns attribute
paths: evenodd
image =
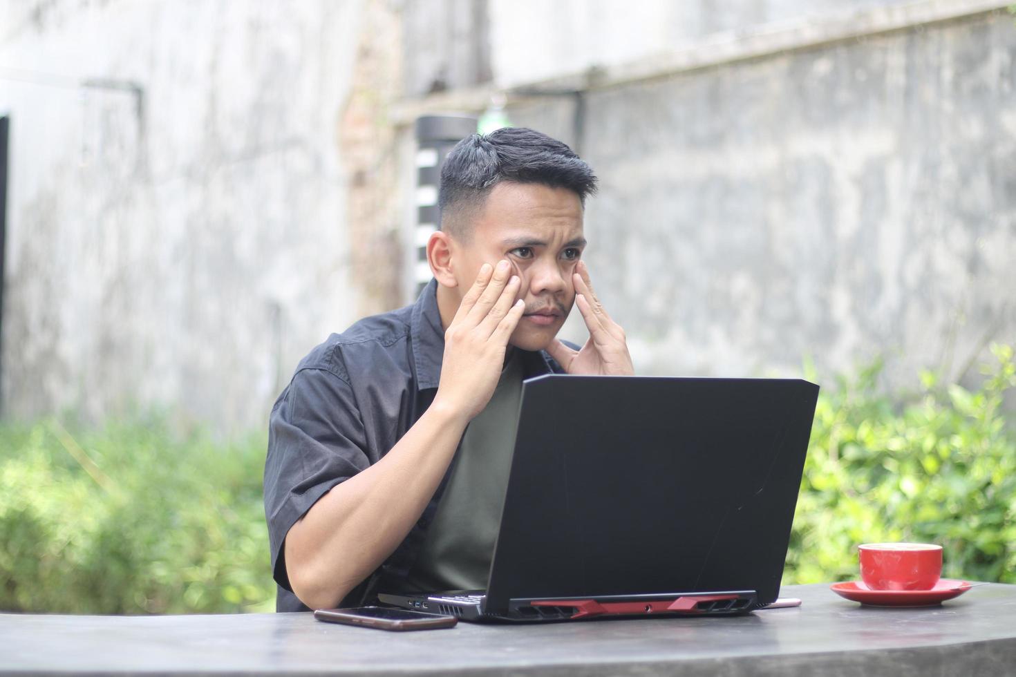
<svg viewBox="0 0 1016 677"><path fill-rule="evenodd" d="M528 379L487 589L379 600L481 622L771 604L818 392L781 379Z"/></svg>

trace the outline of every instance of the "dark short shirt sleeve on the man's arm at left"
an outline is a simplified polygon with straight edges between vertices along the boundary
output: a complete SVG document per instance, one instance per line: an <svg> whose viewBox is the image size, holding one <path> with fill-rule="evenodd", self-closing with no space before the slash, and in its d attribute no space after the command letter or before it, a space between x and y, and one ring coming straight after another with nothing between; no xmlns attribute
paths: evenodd
<svg viewBox="0 0 1016 677"><path fill-rule="evenodd" d="M304 368L268 419L264 512L271 570L293 592L283 544L297 520L332 487L370 465L360 410L350 385L335 374Z"/></svg>

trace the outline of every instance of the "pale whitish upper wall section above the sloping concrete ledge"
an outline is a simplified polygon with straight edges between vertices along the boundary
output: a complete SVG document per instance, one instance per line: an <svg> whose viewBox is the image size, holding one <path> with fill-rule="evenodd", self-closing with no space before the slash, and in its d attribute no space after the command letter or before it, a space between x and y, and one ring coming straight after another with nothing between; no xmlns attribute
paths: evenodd
<svg viewBox="0 0 1016 677"><path fill-rule="evenodd" d="M786 21L908 0L397 0L407 96L527 85Z"/></svg>

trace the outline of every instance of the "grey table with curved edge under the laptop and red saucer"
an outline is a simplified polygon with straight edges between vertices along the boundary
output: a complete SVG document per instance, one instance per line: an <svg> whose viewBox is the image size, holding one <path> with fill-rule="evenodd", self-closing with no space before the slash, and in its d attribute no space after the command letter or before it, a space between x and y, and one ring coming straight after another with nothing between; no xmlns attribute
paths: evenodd
<svg viewBox="0 0 1016 677"><path fill-rule="evenodd" d="M801 608L387 632L311 614L0 614L0 673L237 675L1001 675L1016 671L1016 586L942 606L861 607L828 585Z"/></svg>

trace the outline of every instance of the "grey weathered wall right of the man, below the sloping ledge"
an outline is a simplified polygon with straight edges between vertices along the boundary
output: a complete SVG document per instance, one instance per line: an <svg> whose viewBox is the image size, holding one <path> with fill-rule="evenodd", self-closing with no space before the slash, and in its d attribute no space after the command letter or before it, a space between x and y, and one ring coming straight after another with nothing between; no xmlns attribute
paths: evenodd
<svg viewBox="0 0 1016 677"><path fill-rule="evenodd" d="M1014 85L999 12L590 92L587 259L640 370L913 383L1016 340Z"/></svg>

